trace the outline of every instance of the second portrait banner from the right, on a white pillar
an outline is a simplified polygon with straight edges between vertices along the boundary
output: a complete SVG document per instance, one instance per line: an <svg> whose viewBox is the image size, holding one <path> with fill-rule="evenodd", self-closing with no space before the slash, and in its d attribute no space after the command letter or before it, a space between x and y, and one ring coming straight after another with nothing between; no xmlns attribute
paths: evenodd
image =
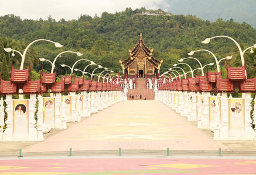
<svg viewBox="0 0 256 175"><path fill-rule="evenodd" d="M215 121L221 122L220 97L209 97L209 124L214 127Z"/></svg>

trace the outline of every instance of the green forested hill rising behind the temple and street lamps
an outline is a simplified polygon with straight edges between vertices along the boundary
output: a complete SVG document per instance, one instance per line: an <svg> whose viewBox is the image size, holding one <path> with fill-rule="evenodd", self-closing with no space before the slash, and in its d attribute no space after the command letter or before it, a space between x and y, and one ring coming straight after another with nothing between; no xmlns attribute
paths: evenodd
<svg viewBox="0 0 256 175"><path fill-rule="evenodd" d="M153 48L153 54L158 60L163 60L161 69L166 71L180 57L187 57L186 53L196 48L209 49L219 58L237 55L236 47L232 41L220 38L209 44L202 44L200 41L207 37L231 36L245 47L256 43L256 30L247 23L239 24L233 20L223 21L221 19L211 23L196 16L184 15L138 15L138 13L146 11L158 13L159 10L127 8L124 12L116 12L115 14L104 12L101 17L81 15L77 20L66 21L62 19L58 22L50 16L48 20L21 20L20 17L14 15L1 16L1 60L5 54L6 60L9 63L12 60L13 65L17 66L21 60L19 55L16 54L15 57L10 58L9 54L4 53L2 47L11 46L23 51L31 41L46 38L58 41L64 47L56 48L53 44L46 42L33 44L31 53L27 55L29 59L26 59L26 64L30 60L36 71L42 69L42 66L44 69L50 70L49 62L40 62L39 65L36 65L37 58L43 57L53 60L61 51L71 50L83 53L81 58L94 60L98 64L118 72L121 71L119 60L128 57L128 50L135 46L142 30L142 37L146 45ZM162 14L165 13L162 11ZM196 54L196 57L204 63L213 62L213 58L205 53ZM78 58L74 54L62 55L62 58L56 62L57 71L65 71L60 68L60 64L73 65L78 59L80 57ZM240 61L238 58L237 60ZM85 64L87 63L81 63L77 67L82 69Z"/></svg>

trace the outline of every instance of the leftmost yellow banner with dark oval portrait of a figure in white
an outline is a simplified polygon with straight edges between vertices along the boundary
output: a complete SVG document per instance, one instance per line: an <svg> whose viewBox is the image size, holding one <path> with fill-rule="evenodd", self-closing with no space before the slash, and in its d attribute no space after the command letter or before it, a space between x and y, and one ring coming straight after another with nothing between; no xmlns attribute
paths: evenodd
<svg viewBox="0 0 256 175"><path fill-rule="evenodd" d="M29 137L29 100L13 100L13 138Z"/></svg>

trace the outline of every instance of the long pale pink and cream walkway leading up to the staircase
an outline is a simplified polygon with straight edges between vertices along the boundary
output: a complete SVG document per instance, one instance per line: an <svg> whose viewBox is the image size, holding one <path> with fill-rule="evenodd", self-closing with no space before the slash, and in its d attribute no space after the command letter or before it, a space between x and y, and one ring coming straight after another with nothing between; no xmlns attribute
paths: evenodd
<svg viewBox="0 0 256 175"><path fill-rule="evenodd" d="M160 101L121 101L23 152L166 149L228 150Z"/></svg>

